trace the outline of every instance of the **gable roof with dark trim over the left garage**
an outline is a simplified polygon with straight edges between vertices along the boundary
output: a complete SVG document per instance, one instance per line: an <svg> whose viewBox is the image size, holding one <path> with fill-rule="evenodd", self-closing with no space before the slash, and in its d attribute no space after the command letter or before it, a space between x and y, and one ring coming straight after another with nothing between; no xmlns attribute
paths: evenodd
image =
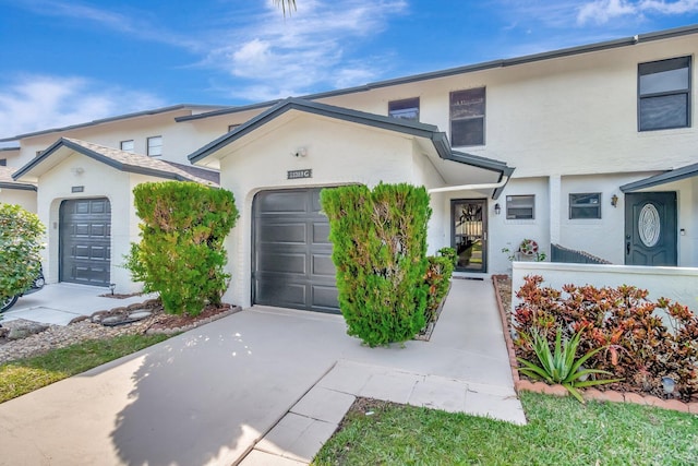
<svg viewBox="0 0 698 466"><path fill-rule="evenodd" d="M166 178L178 181L194 181L207 186L218 186L217 182L200 176L202 175L201 172L189 172L180 168L181 166L178 167L170 163L158 160L146 155L124 152L118 148L106 147L99 144L94 144L91 142L71 138L61 138L56 141L40 156L36 157L24 167L20 168L20 170L17 170L17 172L13 175L13 178L17 180L22 177L29 176L31 174L34 174L36 176L44 174L50 170L53 165L56 165L53 164L49 166L48 164L46 164L46 160L55 157L64 159L70 156L72 152L85 155L121 171L148 175L157 178ZM203 169L197 168L197 170ZM210 172L210 170L204 171ZM209 175L207 175L206 177L210 178Z"/></svg>

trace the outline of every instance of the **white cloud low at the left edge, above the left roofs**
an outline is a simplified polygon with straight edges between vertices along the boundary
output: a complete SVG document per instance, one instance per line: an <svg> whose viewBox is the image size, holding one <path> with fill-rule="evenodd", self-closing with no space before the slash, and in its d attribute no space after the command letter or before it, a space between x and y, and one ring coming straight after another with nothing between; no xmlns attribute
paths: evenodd
<svg viewBox="0 0 698 466"><path fill-rule="evenodd" d="M84 77L25 75L0 85L0 138L161 107L151 94Z"/></svg>

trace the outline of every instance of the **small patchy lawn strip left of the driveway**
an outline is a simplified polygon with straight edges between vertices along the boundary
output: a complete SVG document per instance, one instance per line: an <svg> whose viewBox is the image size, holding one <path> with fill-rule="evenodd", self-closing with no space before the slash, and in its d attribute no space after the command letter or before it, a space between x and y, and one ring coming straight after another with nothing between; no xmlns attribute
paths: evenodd
<svg viewBox="0 0 698 466"><path fill-rule="evenodd" d="M167 335L123 335L53 349L0 366L0 403L167 339Z"/></svg>

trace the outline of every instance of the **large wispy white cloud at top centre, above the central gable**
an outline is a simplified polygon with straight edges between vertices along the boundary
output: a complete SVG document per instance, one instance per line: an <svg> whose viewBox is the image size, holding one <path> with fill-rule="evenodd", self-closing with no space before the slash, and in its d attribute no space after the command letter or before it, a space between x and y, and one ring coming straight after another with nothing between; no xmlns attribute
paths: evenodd
<svg viewBox="0 0 698 466"><path fill-rule="evenodd" d="M249 16L246 27L218 34L200 63L242 80L229 92L232 97L261 100L305 94L317 85L364 84L382 71L380 60L347 57L407 10L405 0L308 0L284 19L270 3L265 14Z"/></svg>

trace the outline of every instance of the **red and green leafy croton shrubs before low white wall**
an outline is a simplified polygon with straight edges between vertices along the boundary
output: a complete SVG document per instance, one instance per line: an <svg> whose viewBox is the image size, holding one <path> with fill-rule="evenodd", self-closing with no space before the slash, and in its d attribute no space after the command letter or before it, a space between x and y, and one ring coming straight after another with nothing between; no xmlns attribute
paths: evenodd
<svg viewBox="0 0 698 466"><path fill-rule="evenodd" d="M534 360L525 335L540 332L553 344L557 328L566 337L578 332L580 354L603 348L589 367L658 396L663 377L674 379L686 399L698 393L698 316L687 307L665 298L653 302L647 290L633 286L557 290L541 286L541 276L525 279L514 312L515 346L524 359Z"/></svg>

